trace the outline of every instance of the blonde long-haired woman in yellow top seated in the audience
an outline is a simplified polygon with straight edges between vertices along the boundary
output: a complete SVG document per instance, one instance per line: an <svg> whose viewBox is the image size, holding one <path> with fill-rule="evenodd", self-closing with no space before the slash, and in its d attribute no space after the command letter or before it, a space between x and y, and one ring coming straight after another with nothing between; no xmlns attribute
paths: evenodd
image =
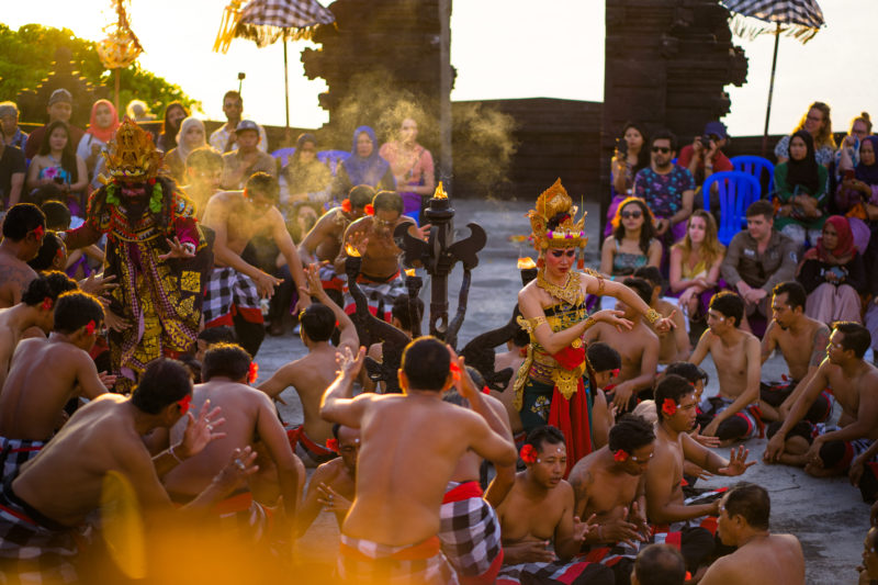
<svg viewBox="0 0 878 585"><path fill-rule="evenodd" d="M707 315L724 258L725 246L717 238L716 220L705 210L696 210L689 216L686 236L671 248L671 292L679 295L679 307L690 320Z"/></svg>

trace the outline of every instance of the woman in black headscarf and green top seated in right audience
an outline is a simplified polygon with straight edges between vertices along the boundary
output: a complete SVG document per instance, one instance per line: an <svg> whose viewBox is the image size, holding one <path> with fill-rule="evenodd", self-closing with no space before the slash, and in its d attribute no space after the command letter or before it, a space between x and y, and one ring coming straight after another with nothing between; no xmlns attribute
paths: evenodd
<svg viewBox="0 0 878 585"><path fill-rule="evenodd" d="M789 140L789 160L775 167L777 218L775 227L802 246L820 237L826 221L826 178L814 158L814 139L800 130Z"/></svg>

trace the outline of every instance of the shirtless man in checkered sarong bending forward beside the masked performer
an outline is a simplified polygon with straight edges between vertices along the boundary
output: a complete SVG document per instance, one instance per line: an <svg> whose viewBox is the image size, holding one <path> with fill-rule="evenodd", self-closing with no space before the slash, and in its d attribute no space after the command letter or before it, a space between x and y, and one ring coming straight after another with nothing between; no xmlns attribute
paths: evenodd
<svg viewBox="0 0 878 585"><path fill-rule="evenodd" d="M203 224L216 234L215 267L204 293L204 326L234 325L238 342L254 357L266 337L259 299L270 299L282 281L241 259L250 238L271 234L286 258L296 288L306 284L299 252L277 207L278 193L278 180L257 172L247 180L244 191L217 193L204 210ZM309 304L309 297L300 296L295 313Z"/></svg>

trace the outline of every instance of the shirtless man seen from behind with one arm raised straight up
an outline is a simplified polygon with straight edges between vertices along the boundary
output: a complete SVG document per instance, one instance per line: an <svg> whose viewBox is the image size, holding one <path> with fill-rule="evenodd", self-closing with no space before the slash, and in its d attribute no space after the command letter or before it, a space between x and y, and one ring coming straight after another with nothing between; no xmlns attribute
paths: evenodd
<svg viewBox="0 0 878 585"><path fill-rule="evenodd" d="M300 294L317 299L309 307L302 312L299 322L302 324L300 336L308 349L304 358L292 361L259 385L259 390L272 398L280 396L288 386L295 387L302 402L305 420L299 427L288 431L290 443L305 463L305 466L316 468L337 455L326 447L326 441L333 438L333 424L320 418L320 398L323 393L335 380L336 355L339 351L357 351L359 341L357 329L341 307L339 307L320 286L317 266L311 265L307 269L308 288ZM338 347L329 345L329 339L336 330L340 331Z"/></svg>

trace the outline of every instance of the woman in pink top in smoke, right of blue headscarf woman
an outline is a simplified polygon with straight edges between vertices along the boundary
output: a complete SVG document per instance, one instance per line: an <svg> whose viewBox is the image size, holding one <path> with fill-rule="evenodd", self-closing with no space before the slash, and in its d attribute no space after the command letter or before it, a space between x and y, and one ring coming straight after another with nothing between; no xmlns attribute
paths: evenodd
<svg viewBox="0 0 878 585"><path fill-rule="evenodd" d="M436 176L432 155L418 144L418 123L410 117L403 120L397 139L383 144L379 155L391 166L403 198L403 215L420 225L421 201L436 190Z"/></svg>

